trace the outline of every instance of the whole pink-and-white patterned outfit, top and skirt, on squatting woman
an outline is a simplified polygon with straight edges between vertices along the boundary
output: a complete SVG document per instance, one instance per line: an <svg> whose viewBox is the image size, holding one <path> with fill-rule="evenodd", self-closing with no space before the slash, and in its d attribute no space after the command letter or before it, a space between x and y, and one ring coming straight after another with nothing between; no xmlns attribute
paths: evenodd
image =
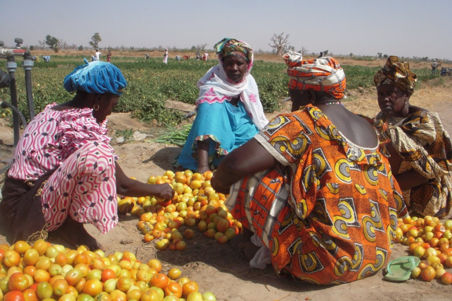
<svg viewBox="0 0 452 301"><path fill-rule="evenodd" d="M43 186L47 229L70 214L105 233L118 222L114 149L106 120L99 124L89 108L56 111L52 103L26 127L16 147L9 177L35 181L56 172Z"/></svg>

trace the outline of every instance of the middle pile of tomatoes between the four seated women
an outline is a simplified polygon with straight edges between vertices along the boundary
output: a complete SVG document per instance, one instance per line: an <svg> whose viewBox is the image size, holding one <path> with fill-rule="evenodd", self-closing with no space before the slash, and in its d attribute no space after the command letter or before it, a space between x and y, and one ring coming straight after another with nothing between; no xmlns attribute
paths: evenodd
<svg viewBox="0 0 452 301"><path fill-rule="evenodd" d="M119 211L138 216L137 227L143 233L143 241L154 241L159 250L184 250L184 239L194 236L192 227L218 243L228 242L240 233L242 224L224 206L227 196L210 186L211 178L211 171L201 175L190 170L150 176L149 184L170 184L175 192L173 199L119 198ZM180 231L184 225L187 229Z"/></svg>

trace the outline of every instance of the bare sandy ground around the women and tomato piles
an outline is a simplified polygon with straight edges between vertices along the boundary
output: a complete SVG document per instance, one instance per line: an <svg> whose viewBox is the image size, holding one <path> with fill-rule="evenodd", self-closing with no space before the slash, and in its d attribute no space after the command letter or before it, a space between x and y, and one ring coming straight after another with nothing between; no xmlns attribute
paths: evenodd
<svg viewBox="0 0 452 301"><path fill-rule="evenodd" d="M439 112L445 128L452 132L452 79L446 78L446 84L435 88L424 88L416 91L411 103ZM173 103L174 105L174 103ZM352 111L373 116L378 110L374 91L351 91L346 107ZM281 112L289 111L286 104ZM269 114L268 117L278 112ZM116 132L130 128L141 133L155 135L155 128L130 118L127 113L114 113L108 117L109 133L113 137L119 164L130 177L146 181L150 175L163 175L172 169L172 163L180 152L180 147L173 145L148 143L142 141L118 144ZM148 136L149 139L151 136ZM5 119L0 119L0 169L13 151L13 132ZM0 185L3 178L0 175ZM158 251L154 243L144 243L142 235L136 228L137 217L124 216L117 227L105 235L91 225L85 227L106 246L107 254L116 251L132 251L137 258L149 260L158 258L164 263L164 269L180 267L183 275L195 280L200 291L213 292L218 300L449 300L452 286L445 286L439 281L424 282L408 280L394 283L383 280L383 271L378 274L352 283L338 286L316 286L289 278L279 278L271 267L264 270L249 267L247 260L241 257L229 244L220 245L213 239L204 237L197 230L193 239L187 240L184 251ZM0 222L1 234L1 222ZM6 242L0 235L0 243ZM55 238L53 243L65 244ZM391 259L407 255L407 247L396 244Z"/></svg>

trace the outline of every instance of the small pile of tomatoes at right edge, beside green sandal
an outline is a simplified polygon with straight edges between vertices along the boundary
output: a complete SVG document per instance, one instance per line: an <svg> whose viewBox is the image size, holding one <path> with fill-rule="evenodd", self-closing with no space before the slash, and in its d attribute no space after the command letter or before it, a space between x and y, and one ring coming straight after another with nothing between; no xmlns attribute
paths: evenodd
<svg viewBox="0 0 452 301"><path fill-rule="evenodd" d="M440 279L452 283L452 220L437 217L406 217L398 220L396 241L408 246L408 252L421 259L411 271L412 278Z"/></svg>

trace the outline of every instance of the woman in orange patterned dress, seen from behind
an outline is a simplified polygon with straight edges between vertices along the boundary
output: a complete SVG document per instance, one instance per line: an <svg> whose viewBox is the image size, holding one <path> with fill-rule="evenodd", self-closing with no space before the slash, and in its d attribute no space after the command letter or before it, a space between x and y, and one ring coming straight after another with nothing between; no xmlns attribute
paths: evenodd
<svg viewBox="0 0 452 301"><path fill-rule="evenodd" d="M316 284L373 275L407 213L377 131L342 105L346 78L334 58L284 59L292 113L226 156L212 187L230 193L227 206L278 274Z"/></svg>

